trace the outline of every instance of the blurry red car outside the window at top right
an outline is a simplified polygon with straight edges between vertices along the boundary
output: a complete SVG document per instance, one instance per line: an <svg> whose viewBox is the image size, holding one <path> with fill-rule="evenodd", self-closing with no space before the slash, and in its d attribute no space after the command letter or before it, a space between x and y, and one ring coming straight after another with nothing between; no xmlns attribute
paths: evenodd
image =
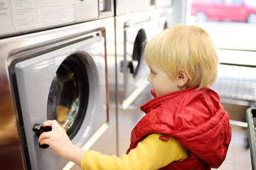
<svg viewBox="0 0 256 170"><path fill-rule="evenodd" d="M256 23L255 5L255 0L194 0L191 4L191 15L196 16L196 21Z"/></svg>

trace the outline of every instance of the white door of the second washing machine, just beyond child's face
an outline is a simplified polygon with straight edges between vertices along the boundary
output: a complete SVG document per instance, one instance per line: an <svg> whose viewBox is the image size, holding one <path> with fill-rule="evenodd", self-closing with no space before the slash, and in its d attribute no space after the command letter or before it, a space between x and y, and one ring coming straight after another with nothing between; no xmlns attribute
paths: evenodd
<svg viewBox="0 0 256 170"><path fill-rule="evenodd" d="M144 47L153 30L149 17L124 23L124 60L121 64L124 73L123 108L127 108L149 86L149 67L144 60Z"/></svg>

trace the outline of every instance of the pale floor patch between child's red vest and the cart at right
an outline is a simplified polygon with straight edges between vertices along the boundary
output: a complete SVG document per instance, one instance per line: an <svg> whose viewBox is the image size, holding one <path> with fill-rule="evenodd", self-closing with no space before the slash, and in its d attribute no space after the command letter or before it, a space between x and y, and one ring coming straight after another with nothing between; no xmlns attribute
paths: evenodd
<svg viewBox="0 0 256 170"><path fill-rule="evenodd" d="M247 128L231 125L232 138L228 154L220 170L247 170L250 169L250 153L246 148Z"/></svg>

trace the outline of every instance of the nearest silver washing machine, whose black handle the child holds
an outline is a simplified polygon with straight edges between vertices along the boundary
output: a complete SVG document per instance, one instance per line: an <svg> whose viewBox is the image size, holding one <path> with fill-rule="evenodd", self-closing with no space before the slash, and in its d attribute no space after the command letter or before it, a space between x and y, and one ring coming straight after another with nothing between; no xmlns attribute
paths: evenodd
<svg viewBox="0 0 256 170"><path fill-rule="evenodd" d="M0 35L1 169L72 169L72 162L38 144L38 124L58 120L75 145L97 149L95 144L115 116L110 116L115 98L109 97L109 89L115 87L115 64L107 64L115 60L114 17L101 16L98 1L44 3L1 4L6 6L1 8L1 17L14 17L10 22L17 24L11 26L6 19ZM81 13L83 18L79 18L75 9L85 6L92 15ZM46 8L48 15L43 17L48 17L48 25L42 25L47 20L36 17ZM57 22L57 16L50 20L50 15L62 16L64 9L71 12L73 18L66 18L70 21ZM115 133L100 141L115 152Z"/></svg>

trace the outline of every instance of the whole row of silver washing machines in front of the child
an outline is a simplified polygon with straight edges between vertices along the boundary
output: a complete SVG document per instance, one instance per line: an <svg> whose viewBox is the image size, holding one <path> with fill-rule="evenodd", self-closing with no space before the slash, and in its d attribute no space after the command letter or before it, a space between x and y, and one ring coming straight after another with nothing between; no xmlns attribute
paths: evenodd
<svg viewBox="0 0 256 170"><path fill-rule="evenodd" d="M151 99L145 41L171 26L174 1L0 3L1 169L77 169L38 145L55 119L75 145L125 154Z"/></svg>

